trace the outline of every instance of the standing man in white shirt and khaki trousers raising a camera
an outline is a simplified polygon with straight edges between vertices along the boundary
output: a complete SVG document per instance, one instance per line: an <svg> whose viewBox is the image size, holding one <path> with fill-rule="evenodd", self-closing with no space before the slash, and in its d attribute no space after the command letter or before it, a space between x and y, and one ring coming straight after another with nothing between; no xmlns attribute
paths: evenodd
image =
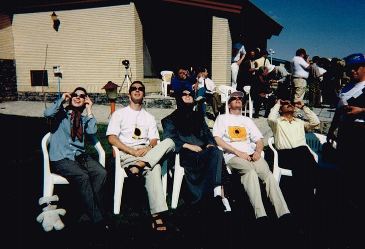
<svg viewBox="0 0 365 249"><path fill-rule="evenodd" d="M300 48L296 52L296 56L290 61L291 66L291 80L294 84L294 102L302 101L305 94L305 87L307 86L307 79L309 76L309 56L305 49ZM303 118L299 113L299 109L295 107L294 117Z"/></svg>

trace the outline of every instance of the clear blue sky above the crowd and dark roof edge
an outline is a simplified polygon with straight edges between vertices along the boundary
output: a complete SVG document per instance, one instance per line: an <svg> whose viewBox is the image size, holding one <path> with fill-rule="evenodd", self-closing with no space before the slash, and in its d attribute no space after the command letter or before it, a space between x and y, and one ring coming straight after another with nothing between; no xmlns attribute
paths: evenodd
<svg viewBox="0 0 365 249"><path fill-rule="evenodd" d="M343 58L365 54L365 2L363 0L250 0L283 26L268 40L273 58L291 60L299 48L312 56ZM263 27L260 23L259 27Z"/></svg>

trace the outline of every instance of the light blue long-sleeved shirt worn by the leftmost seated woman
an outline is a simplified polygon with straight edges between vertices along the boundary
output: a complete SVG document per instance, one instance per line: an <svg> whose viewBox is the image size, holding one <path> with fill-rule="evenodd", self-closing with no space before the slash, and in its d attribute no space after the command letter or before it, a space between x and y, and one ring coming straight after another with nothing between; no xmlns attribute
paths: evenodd
<svg viewBox="0 0 365 249"><path fill-rule="evenodd" d="M44 116L51 122L51 127L57 127L56 130L51 128L49 157L50 161L58 161L64 158L74 161L75 156L85 153L85 133L95 134L97 131L95 117L81 116L83 127L83 141L71 138L71 112L63 108L61 98L44 111Z"/></svg>

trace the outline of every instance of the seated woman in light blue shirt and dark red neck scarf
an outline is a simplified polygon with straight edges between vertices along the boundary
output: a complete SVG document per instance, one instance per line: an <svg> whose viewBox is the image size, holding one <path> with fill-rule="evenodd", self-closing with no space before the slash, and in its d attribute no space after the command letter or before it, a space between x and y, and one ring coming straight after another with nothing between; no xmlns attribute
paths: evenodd
<svg viewBox="0 0 365 249"><path fill-rule="evenodd" d="M68 103L66 107L63 107L64 103ZM104 227L101 199L106 170L85 154L84 147L85 135L94 135L97 131L92 105L86 90L77 87L73 92L63 93L44 111L44 116L51 123L51 172L67 179L79 194L83 212L79 222L91 221ZM85 109L87 115L83 116Z"/></svg>

